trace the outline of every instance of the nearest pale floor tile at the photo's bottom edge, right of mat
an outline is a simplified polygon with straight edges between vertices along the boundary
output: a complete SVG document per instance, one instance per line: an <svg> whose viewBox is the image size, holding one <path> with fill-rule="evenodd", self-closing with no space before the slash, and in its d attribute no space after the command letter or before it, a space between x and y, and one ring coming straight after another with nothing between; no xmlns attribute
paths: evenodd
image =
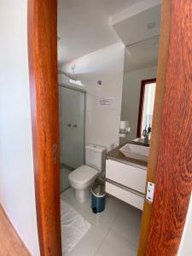
<svg viewBox="0 0 192 256"><path fill-rule="evenodd" d="M137 256L137 248L110 231L95 256Z"/></svg>

